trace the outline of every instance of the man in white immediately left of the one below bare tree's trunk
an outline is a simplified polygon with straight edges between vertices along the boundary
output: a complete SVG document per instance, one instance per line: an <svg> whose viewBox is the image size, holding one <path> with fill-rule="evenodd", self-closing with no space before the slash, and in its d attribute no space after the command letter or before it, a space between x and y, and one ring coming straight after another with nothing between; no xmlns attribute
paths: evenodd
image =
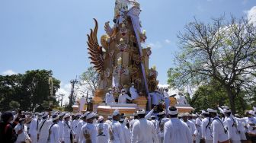
<svg viewBox="0 0 256 143"><path fill-rule="evenodd" d="M211 129L213 132L213 143L218 142L230 142L228 138L228 132L222 122L222 119L219 119L217 116L217 110L208 109L211 118L213 118Z"/></svg>

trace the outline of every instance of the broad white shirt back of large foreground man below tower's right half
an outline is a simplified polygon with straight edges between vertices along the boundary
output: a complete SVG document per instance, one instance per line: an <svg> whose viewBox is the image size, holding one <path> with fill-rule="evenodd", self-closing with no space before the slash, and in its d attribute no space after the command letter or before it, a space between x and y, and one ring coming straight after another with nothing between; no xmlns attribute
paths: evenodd
<svg viewBox="0 0 256 143"><path fill-rule="evenodd" d="M153 123L145 118L134 122L131 142L158 143L159 141Z"/></svg>

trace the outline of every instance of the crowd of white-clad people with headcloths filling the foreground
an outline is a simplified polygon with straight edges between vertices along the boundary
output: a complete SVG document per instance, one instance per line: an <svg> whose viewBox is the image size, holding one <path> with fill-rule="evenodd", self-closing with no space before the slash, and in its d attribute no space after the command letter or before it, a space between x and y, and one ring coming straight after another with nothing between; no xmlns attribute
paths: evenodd
<svg viewBox="0 0 256 143"><path fill-rule="evenodd" d="M5 112L1 115L1 142L32 143L236 143L255 142L256 115L232 115L228 106L179 113L174 106L167 112L138 110L126 116L119 110L104 119L97 113Z"/></svg>

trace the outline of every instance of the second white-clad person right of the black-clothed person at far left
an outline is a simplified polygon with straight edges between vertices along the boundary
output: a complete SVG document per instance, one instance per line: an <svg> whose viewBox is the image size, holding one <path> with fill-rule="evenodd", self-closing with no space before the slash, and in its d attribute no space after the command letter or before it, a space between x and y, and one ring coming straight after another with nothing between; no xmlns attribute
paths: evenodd
<svg viewBox="0 0 256 143"><path fill-rule="evenodd" d="M39 125L39 120L37 119L37 116L35 116L34 119L32 119L30 122L30 129L28 131L28 135L30 135L32 143L37 143L38 125Z"/></svg>

